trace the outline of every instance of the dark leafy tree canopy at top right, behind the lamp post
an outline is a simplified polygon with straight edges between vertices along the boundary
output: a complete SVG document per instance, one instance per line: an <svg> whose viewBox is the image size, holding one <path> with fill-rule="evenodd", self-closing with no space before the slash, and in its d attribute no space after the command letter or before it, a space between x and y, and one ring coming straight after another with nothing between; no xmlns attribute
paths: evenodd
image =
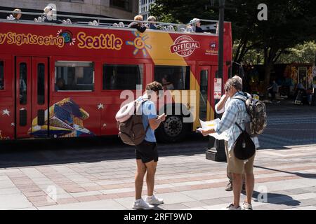
<svg viewBox="0 0 316 224"><path fill-rule="evenodd" d="M157 0L152 13L158 18L169 15L174 22L186 23L195 17L217 20L216 6L205 7L209 2ZM268 21L257 18L260 3L268 6ZM225 8L225 20L232 22L234 61L242 62L249 50L263 51L265 85L272 66L288 48L316 39L315 0L226 0Z"/></svg>

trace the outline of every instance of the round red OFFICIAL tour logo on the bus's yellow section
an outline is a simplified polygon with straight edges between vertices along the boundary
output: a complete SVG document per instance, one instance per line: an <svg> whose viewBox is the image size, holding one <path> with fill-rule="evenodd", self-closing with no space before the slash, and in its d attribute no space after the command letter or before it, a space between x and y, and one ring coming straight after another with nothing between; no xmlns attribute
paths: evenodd
<svg viewBox="0 0 316 224"><path fill-rule="evenodd" d="M176 53L181 57L192 55L195 49L200 48L199 42L193 40L190 36L179 36L171 45L171 53Z"/></svg>

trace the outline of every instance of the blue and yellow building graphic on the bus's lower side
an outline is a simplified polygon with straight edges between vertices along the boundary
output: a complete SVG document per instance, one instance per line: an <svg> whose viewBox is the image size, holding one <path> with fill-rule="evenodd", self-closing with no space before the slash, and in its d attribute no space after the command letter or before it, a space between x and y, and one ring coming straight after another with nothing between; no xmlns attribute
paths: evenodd
<svg viewBox="0 0 316 224"><path fill-rule="evenodd" d="M38 125L37 118L33 119L28 134L33 137L47 137L47 113L46 110L44 125ZM62 99L49 108L49 133L54 138L94 136L84 127L84 120L88 118L89 114L72 99Z"/></svg>

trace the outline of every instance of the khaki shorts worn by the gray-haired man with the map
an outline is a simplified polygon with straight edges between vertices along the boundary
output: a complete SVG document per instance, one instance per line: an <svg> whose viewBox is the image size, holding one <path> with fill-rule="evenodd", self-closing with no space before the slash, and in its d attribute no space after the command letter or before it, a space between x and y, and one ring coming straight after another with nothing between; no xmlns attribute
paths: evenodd
<svg viewBox="0 0 316 224"><path fill-rule="evenodd" d="M254 158L256 153L248 159L246 163L243 160L239 160L234 155L234 150L231 149L228 153L228 170L232 174L254 174Z"/></svg>

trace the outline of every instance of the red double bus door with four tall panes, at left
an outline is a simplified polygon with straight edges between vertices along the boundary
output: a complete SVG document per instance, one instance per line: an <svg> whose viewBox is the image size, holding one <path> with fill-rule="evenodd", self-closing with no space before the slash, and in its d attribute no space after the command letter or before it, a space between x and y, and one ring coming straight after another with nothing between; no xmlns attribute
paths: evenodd
<svg viewBox="0 0 316 224"><path fill-rule="evenodd" d="M48 137L48 59L16 57L16 138Z"/></svg>

